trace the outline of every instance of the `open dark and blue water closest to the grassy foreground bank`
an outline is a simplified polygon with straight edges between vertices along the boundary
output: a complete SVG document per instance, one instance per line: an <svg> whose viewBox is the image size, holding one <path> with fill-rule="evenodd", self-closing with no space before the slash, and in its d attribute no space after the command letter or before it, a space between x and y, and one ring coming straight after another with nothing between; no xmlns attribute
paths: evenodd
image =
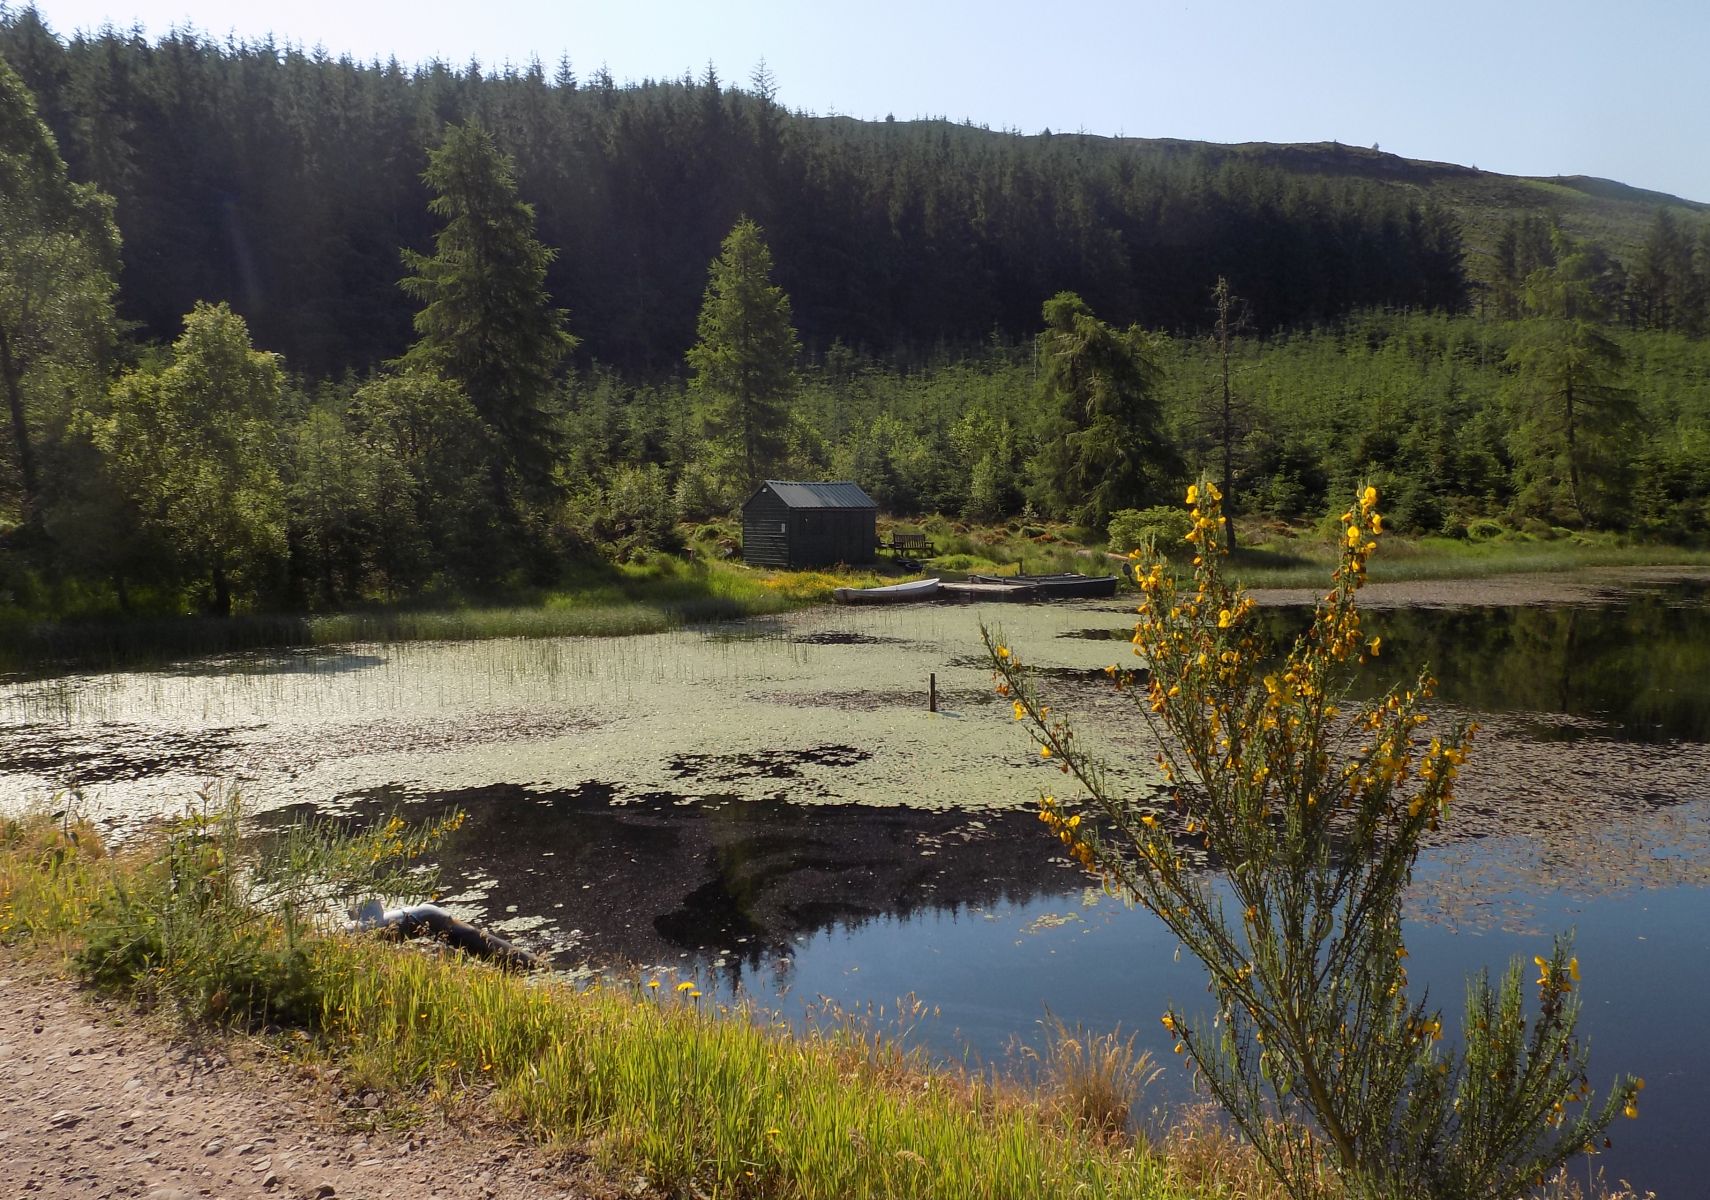
<svg viewBox="0 0 1710 1200"><path fill-rule="evenodd" d="M337 812L366 824L451 807L469 821L443 848L446 903L561 968L663 968L788 1017L817 997L860 1009L913 993L940 1010L920 1032L929 1048L992 1063L1050 1010L1137 1031L1139 1046L1173 1067L1158 1014L1207 1003L1200 968L1168 930L1055 856L1028 812L621 798L592 783L376 791ZM1606 1087L1616 1070L1650 1082L1645 1118L1614 1130L1604 1164L1613 1178L1689 1195L1688 1181L1710 1168L1698 1137L1710 892L1671 874L1650 879L1643 863L1681 865L1710 846L1710 800L1652 819L1626 822L1630 844L1616 848L1624 867L1602 877L1568 858L1551 863L1530 838L1430 851L1409 904L1411 974L1454 1014L1469 973L1546 952L1556 930L1577 928L1594 1082ZM1577 846L1580 865L1611 853L1607 841ZM1707 863L1696 862L1700 877ZM1582 885L1551 885L1560 870ZM1175 1070L1153 1099L1188 1096Z"/></svg>

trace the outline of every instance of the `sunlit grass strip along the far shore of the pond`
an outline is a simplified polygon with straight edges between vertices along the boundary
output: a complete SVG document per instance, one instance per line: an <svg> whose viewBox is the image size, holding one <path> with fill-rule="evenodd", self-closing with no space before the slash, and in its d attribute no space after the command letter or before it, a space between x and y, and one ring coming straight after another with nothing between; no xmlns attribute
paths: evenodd
<svg viewBox="0 0 1710 1200"><path fill-rule="evenodd" d="M1014 528L1011 528L1014 526ZM927 523L932 556L923 573L1115 574L1117 562L1088 530L1065 525L968 526ZM1312 535L1247 542L1233 573L1250 588L1317 586L1334 547ZM1703 566L1710 550L1623 545L1590 537L1486 542L1387 538L1373 581L1491 578L1621 566ZM829 603L840 586L865 588L917 578L891 561L838 571L768 571L716 557L652 556L633 564L587 564L551 586L503 603L356 609L330 614L238 617L104 617L32 621L0 612L0 672L132 667L292 646L347 643L475 641L491 638L609 638L775 615Z"/></svg>

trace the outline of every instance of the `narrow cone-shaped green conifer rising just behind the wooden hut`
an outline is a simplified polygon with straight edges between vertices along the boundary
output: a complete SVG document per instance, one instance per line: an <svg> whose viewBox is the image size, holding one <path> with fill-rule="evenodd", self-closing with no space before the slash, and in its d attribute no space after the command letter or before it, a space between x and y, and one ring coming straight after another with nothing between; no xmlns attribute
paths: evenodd
<svg viewBox="0 0 1710 1200"><path fill-rule="evenodd" d="M790 297L771 282L771 251L747 217L713 260L698 328L691 386L708 402L720 467L752 487L783 462L800 345Z"/></svg>

